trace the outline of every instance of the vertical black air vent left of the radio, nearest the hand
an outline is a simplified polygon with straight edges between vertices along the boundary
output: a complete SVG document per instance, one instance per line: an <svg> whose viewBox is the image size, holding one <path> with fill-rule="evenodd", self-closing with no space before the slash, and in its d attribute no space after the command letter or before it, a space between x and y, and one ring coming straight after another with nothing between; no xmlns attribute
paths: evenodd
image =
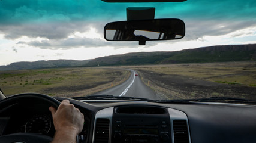
<svg viewBox="0 0 256 143"><path fill-rule="evenodd" d="M95 143L109 142L109 119L99 118L96 120Z"/></svg>

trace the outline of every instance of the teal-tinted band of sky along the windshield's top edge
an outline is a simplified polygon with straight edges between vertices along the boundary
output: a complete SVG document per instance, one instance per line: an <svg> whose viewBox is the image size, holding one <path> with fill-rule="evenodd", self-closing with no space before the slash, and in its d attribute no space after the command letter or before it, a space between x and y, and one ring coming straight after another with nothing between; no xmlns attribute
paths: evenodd
<svg viewBox="0 0 256 143"><path fill-rule="evenodd" d="M240 20L243 17L244 20L255 20L256 15L254 0L188 0L158 4L117 4L100 0L2 0L0 20L8 24L27 20L91 21L113 17L125 20L125 8L132 6L156 7L156 18Z"/></svg>

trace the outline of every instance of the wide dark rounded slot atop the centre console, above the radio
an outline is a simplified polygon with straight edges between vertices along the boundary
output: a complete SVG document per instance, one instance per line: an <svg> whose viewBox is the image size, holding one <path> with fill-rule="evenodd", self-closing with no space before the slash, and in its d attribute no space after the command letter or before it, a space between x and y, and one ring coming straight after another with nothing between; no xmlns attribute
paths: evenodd
<svg viewBox="0 0 256 143"><path fill-rule="evenodd" d="M150 107L150 106L130 106L130 107L118 107L116 113L119 114L165 114L167 110L165 108Z"/></svg>

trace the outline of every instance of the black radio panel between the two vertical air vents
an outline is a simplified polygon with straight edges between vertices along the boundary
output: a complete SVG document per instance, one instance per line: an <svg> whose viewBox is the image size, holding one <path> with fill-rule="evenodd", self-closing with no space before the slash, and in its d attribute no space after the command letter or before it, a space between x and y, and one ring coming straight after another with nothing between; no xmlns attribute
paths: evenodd
<svg viewBox="0 0 256 143"><path fill-rule="evenodd" d="M132 109L145 107L131 107ZM148 107L149 110L151 107ZM155 107L152 107L155 108ZM119 107L113 112L112 142L171 142L170 116L166 112L153 114L118 113Z"/></svg>

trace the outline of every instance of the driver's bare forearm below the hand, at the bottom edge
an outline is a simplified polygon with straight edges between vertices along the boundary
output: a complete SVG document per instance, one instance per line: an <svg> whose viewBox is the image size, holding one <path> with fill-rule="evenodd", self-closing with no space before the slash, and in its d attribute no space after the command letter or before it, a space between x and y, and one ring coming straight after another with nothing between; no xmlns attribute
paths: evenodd
<svg viewBox="0 0 256 143"><path fill-rule="evenodd" d="M52 143L76 143L76 136L71 130L60 130L55 133Z"/></svg>

